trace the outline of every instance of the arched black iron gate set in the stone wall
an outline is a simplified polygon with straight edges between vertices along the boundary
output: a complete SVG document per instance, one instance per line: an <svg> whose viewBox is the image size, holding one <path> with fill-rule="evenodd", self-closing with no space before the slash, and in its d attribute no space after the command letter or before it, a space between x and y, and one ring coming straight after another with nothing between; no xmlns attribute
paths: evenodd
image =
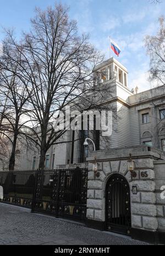
<svg viewBox="0 0 165 256"><path fill-rule="evenodd" d="M130 189L127 180L112 175L106 185L106 230L130 234Z"/></svg>

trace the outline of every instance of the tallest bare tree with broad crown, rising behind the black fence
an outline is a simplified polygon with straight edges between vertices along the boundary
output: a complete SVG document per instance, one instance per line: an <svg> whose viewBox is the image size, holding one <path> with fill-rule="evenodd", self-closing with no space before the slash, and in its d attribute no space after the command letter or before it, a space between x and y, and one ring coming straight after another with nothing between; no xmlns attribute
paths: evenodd
<svg viewBox="0 0 165 256"><path fill-rule="evenodd" d="M103 57L87 35L78 35L76 22L69 20L68 9L61 4L45 12L37 8L31 24L31 31L24 33L20 43L7 31L3 52L17 66L14 74L26 87L27 119L34 137L26 136L40 148L39 168L43 169L47 150L66 132L66 127L54 129L59 111L64 112L66 106L81 112L94 109L105 97L103 88L94 86L92 72ZM20 61L11 49L19 52Z"/></svg>

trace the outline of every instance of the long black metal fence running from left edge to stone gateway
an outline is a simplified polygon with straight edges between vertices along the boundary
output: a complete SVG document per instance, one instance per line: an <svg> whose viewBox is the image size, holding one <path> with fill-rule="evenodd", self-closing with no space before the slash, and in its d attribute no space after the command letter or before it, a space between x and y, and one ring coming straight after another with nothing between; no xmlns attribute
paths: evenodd
<svg viewBox="0 0 165 256"><path fill-rule="evenodd" d="M86 218L87 169L0 172L4 203L34 212Z"/></svg>

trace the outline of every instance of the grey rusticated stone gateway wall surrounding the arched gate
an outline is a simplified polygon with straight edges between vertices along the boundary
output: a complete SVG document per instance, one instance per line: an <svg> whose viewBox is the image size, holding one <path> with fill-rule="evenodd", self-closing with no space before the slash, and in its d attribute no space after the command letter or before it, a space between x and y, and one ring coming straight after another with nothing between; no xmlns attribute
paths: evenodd
<svg viewBox="0 0 165 256"><path fill-rule="evenodd" d="M135 178L131 177L130 171L128 171L130 153L135 162ZM89 222L93 221L94 224L97 223L96 226L99 226L99 222L103 224L102 227L104 226L106 183L113 173L119 173L127 179L130 186L132 230L156 232L160 229L165 231L165 204L161 205L159 203L157 199L159 197L156 193L156 177L163 179L162 183L165 185L165 171L163 175L161 171L160 176L155 175L155 162L160 158L164 159L164 155L161 155L160 151L152 150L147 146L141 148L141 151L140 148L138 148L138 151L135 148L124 148L123 150L94 152L93 157L88 159L87 220ZM95 165L97 165L100 177L94 176ZM136 186L137 194L133 194L133 186Z"/></svg>

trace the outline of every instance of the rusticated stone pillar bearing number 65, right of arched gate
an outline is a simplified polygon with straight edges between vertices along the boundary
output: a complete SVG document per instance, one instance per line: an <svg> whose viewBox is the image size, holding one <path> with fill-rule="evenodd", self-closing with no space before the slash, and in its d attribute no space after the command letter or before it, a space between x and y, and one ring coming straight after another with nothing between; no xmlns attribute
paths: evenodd
<svg viewBox="0 0 165 256"><path fill-rule="evenodd" d="M137 194L131 189L131 226L133 238L139 237L140 230L156 232L158 223L156 217L155 173L153 159L135 159L136 178L131 186L137 187Z"/></svg>

